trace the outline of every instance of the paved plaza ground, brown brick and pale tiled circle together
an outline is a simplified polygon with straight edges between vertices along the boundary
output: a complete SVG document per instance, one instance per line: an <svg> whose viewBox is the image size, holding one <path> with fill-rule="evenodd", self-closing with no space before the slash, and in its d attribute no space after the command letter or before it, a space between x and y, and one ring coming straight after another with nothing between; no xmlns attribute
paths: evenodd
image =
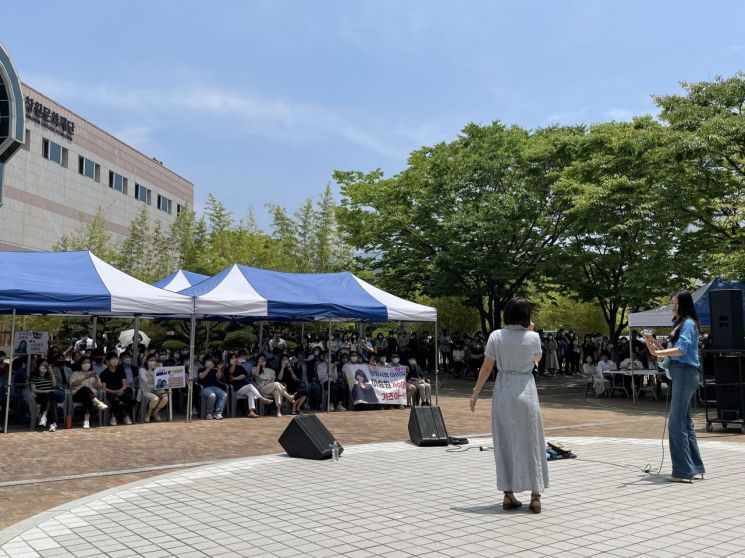
<svg viewBox="0 0 745 558"><path fill-rule="evenodd" d="M477 447L488 394L471 414L472 382L450 380L448 430L477 435L464 453L405 442L399 410L322 415L338 463L281 455L289 417L4 435L0 556L745 554L745 436L697 414L707 479L663 482L642 468L659 464L664 402L585 399L580 382L539 384L547 438L579 455L550 463L540 515L501 510Z"/></svg>

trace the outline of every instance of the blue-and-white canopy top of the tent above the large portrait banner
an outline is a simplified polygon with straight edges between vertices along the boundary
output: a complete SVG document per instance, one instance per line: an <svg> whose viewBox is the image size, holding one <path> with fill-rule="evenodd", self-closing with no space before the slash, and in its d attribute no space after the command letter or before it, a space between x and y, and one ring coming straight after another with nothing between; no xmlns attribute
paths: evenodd
<svg viewBox="0 0 745 558"><path fill-rule="evenodd" d="M437 320L434 308L396 297L348 272L284 273L233 265L180 291L196 313L267 320Z"/></svg>

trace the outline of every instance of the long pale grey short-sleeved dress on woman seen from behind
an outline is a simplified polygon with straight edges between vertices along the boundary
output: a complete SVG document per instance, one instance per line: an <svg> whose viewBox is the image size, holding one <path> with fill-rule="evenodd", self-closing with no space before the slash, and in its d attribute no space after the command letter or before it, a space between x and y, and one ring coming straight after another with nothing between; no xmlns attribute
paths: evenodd
<svg viewBox="0 0 745 558"><path fill-rule="evenodd" d="M499 371L492 397L497 488L542 492L548 488L548 462L533 378L540 337L522 326L506 326L492 332L484 354L494 359Z"/></svg>

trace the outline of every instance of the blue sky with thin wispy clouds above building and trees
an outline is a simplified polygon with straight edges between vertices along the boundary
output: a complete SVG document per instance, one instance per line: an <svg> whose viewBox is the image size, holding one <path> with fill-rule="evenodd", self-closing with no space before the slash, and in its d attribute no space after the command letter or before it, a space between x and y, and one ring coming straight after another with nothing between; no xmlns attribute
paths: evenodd
<svg viewBox="0 0 745 558"><path fill-rule="evenodd" d="M744 69L745 3L4 0L21 78L237 215L400 171L469 121L654 112ZM11 24L6 25L9 22Z"/></svg>

